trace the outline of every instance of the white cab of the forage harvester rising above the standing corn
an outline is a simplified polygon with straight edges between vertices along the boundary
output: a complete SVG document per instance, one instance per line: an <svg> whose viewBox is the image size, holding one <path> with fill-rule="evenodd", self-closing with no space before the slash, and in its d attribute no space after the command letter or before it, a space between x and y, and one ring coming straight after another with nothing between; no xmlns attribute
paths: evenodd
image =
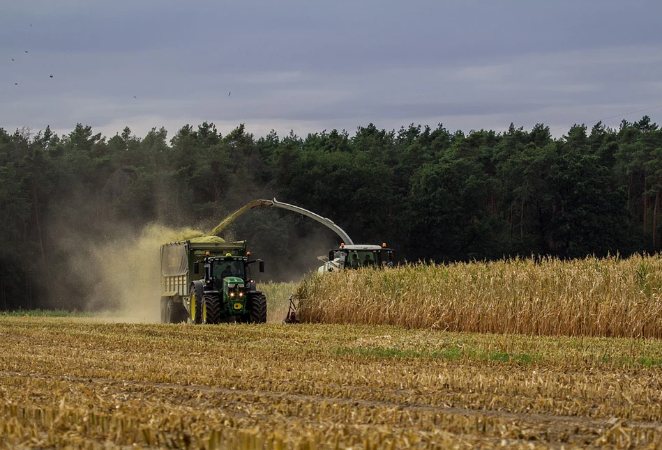
<svg viewBox="0 0 662 450"><path fill-rule="evenodd" d="M324 265L318 272L336 272L343 269L359 269L361 267L385 267L393 265L393 249L386 244L379 245L345 245L329 251L329 258L324 258Z"/></svg>

